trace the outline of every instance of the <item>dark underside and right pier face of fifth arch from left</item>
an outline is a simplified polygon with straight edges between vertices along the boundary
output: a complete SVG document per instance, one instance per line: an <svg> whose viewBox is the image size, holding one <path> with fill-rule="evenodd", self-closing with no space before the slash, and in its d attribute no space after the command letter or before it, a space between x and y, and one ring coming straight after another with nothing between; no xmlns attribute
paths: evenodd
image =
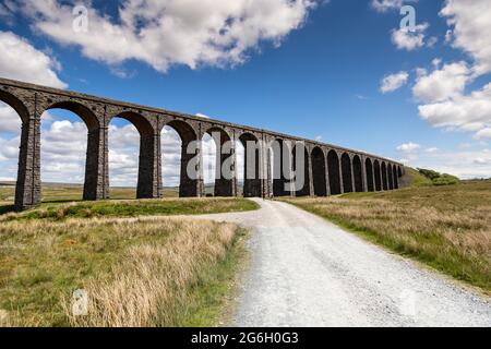
<svg viewBox="0 0 491 349"><path fill-rule="evenodd" d="M233 196L235 165L227 166L226 164L233 156L235 147L231 137L227 131L219 127L207 128L203 134L211 135L216 146L215 196Z"/></svg>

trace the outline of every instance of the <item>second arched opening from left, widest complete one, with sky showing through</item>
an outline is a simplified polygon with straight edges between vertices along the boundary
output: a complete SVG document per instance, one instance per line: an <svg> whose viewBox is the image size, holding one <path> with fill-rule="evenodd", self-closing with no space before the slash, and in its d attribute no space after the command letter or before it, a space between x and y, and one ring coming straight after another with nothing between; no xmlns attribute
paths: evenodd
<svg viewBox="0 0 491 349"><path fill-rule="evenodd" d="M43 113L40 129L43 198L103 198L98 185L100 127L94 112L75 101L56 103ZM59 196L60 190L72 194Z"/></svg>

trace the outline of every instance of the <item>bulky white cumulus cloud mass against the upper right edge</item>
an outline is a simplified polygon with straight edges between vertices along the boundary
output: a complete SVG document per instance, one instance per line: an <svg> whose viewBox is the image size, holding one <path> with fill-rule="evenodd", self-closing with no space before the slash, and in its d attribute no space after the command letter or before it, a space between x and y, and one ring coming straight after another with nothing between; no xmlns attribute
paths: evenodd
<svg viewBox="0 0 491 349"><path fill-rule="evenodd" d="M474 132L477 140L491 139L491 7L488 0L446 0L440 15L451 27L445 41L470 60L419 69L414 96L421 103L419 115L430 124ZM470 83L484 80L482 87L466 92ZM486 79L488 82L486 82Z"/></svg>

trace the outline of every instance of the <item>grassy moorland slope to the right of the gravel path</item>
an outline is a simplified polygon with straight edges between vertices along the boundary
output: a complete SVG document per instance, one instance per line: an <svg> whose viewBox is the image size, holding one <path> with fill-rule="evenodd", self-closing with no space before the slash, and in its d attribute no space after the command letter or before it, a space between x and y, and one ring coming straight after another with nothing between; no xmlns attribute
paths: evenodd
<svg viewBox="0 0 491 349"><path fill-rule="evenodd" d="M491 182L287 200L491 291Z"/></svg>

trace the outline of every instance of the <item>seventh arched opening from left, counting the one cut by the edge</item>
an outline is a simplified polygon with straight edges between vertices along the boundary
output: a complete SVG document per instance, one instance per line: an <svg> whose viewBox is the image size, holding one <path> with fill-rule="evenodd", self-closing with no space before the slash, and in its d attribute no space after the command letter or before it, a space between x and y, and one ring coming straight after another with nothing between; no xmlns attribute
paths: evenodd
<svg viewBox="0 0 491 349"><path fill-rule="evenodd" d="M290 195L290 180L292 168L292 153L289 144L277 139L271 145L272 149L272 178L273 196Z"/></svg>

